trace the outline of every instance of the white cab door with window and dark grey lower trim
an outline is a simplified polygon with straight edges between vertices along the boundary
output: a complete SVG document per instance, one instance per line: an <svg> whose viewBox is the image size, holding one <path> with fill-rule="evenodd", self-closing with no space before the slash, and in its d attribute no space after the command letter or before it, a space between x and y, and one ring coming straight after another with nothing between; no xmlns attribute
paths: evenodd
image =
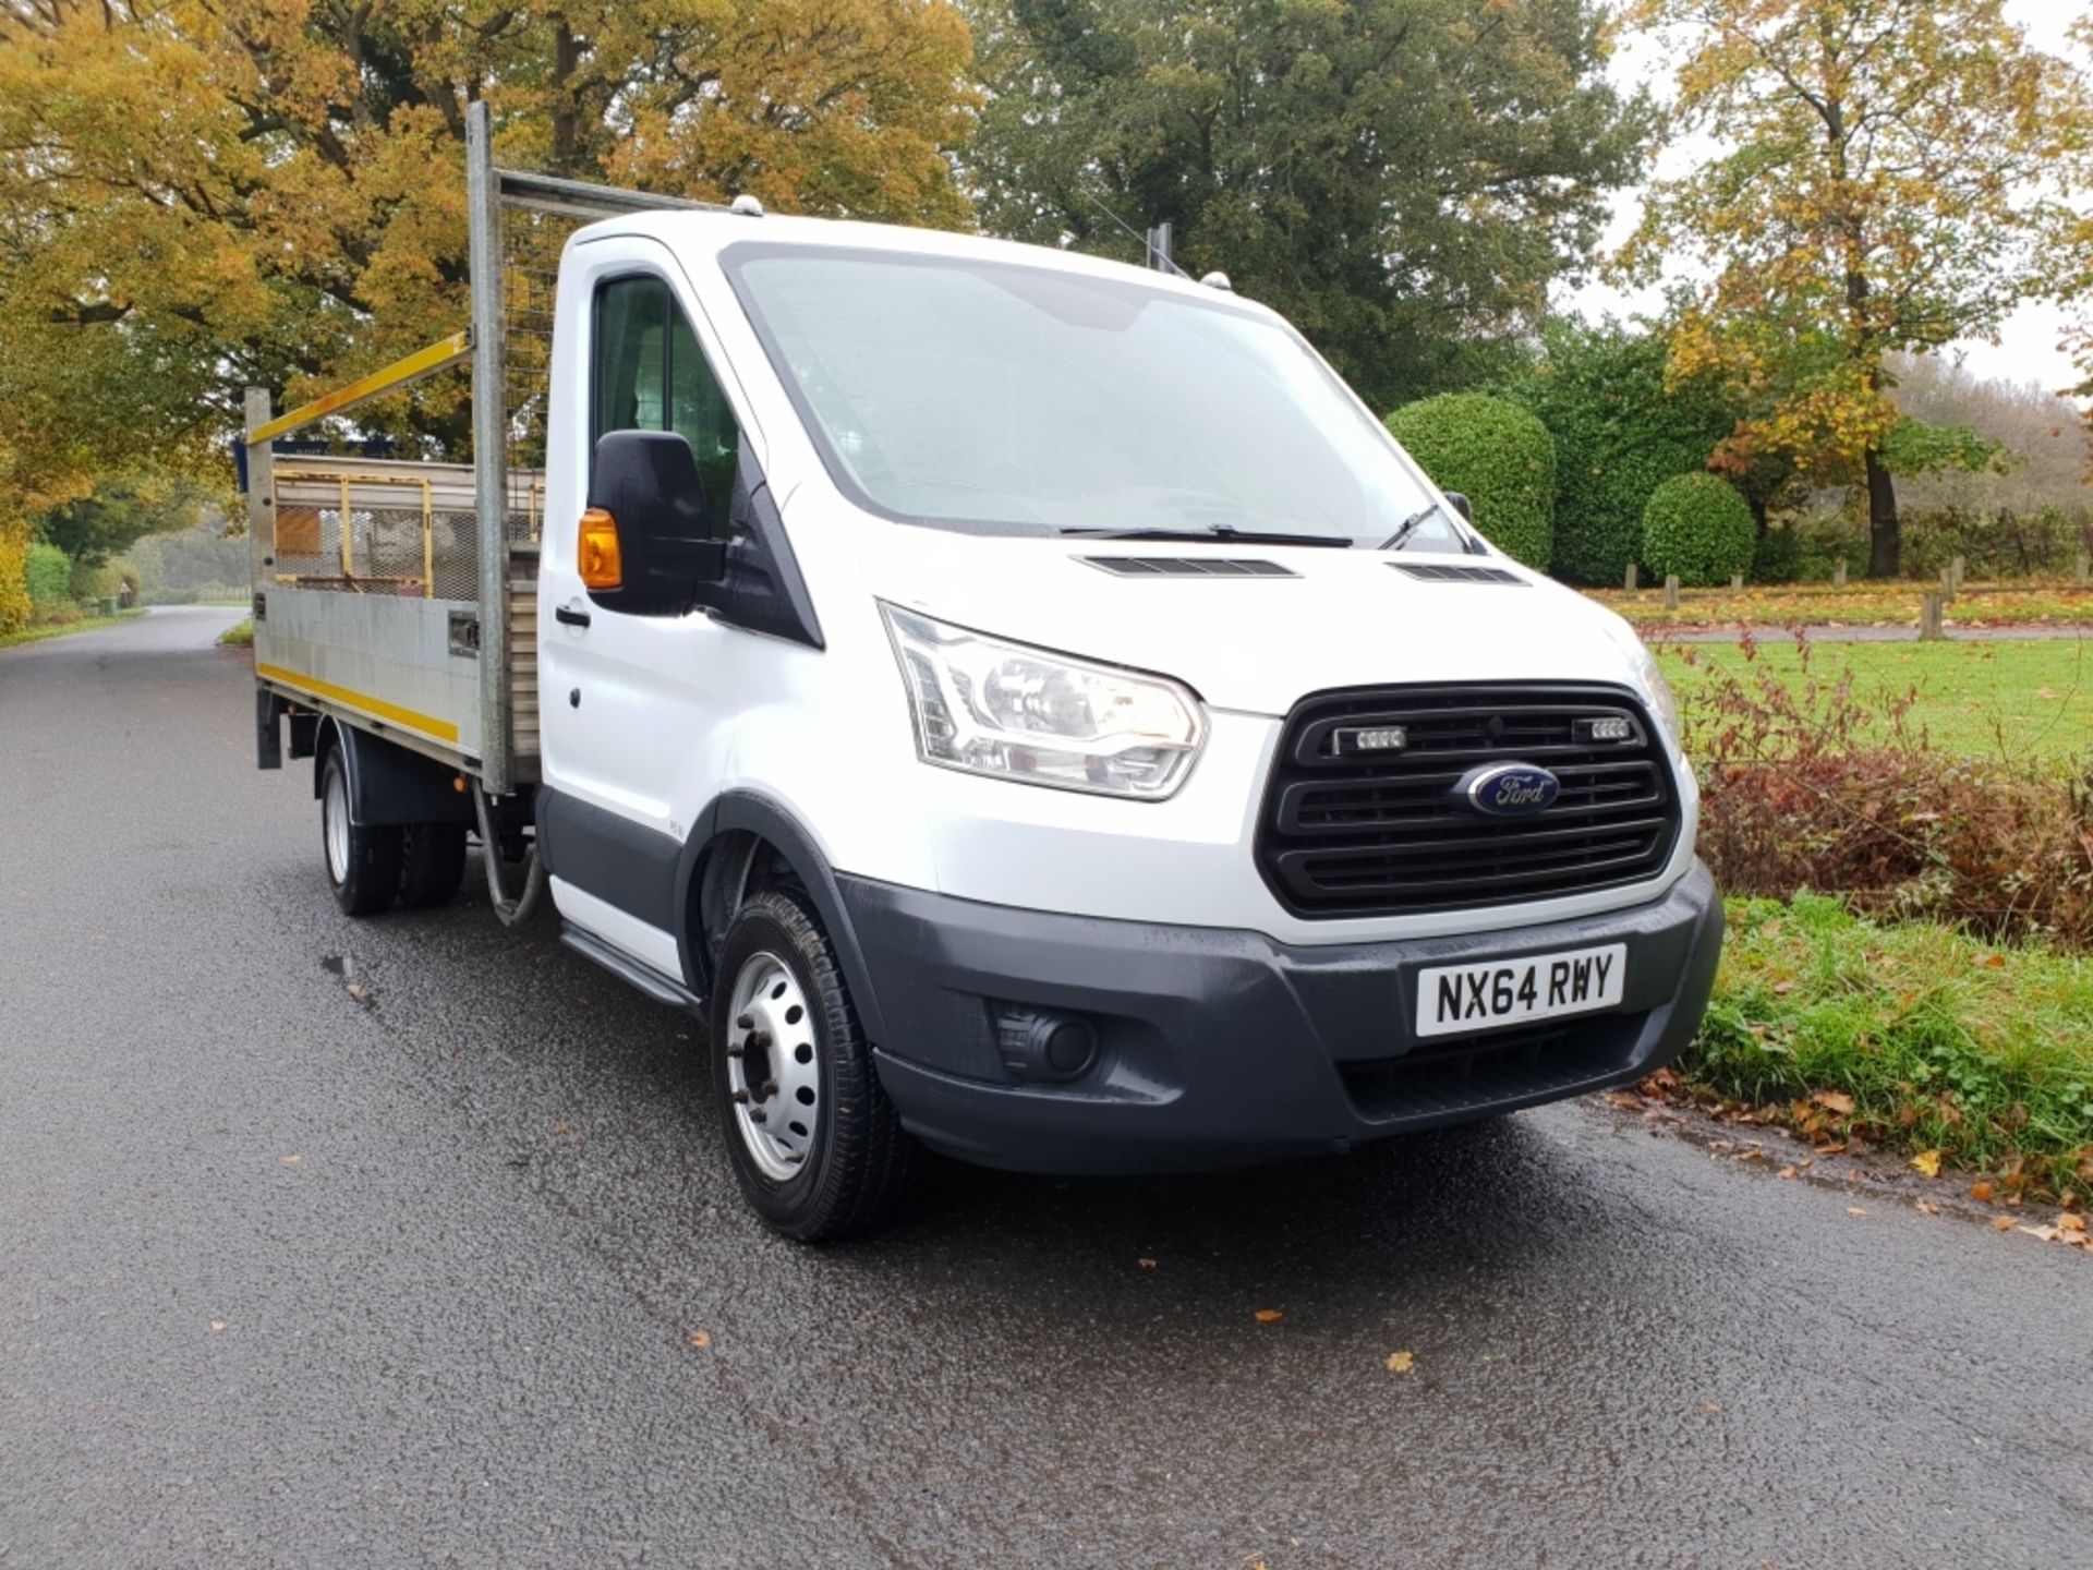
<svg viewBox="0 0 2093 1570"><path fill-rule="evenodd" d="M726 643L745 634L701 611L605 609L582 586L576 530L603 433L676 431L697 461L707 530L724 540L747 427L666 247L597 241L576 247L567 266L580 276L563 281L561 310L578 310L586 327L578 354L555 354L565 419L555 412L548 446L567 465L565 475L555 467L548 490L538 576L553 892L569 921L674 975L682 814L718 789L739 653ZM573 377L586 381L584 396Z"/></svg>

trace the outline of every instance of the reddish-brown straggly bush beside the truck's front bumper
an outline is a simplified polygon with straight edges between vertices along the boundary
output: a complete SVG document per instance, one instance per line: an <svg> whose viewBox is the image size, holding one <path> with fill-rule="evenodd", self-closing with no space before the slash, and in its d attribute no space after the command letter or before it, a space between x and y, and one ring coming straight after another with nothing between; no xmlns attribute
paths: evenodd
<svg viewBox="0 0 2093 1570"><path fill-rule="evenodd" d="M2093 952L2093 768L1961 758L1911 722L1915 691L1710 666L1687 701L1702 856L1733 894L1846 896L1986 938ZM1685 649L1691 661L1693 651Z"/></svg>

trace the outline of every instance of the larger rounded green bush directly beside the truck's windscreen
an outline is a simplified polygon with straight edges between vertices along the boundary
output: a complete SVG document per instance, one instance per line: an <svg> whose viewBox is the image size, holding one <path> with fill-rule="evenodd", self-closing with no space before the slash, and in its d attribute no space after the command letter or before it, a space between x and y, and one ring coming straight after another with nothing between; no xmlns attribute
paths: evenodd
<svg viewBox="0 0 2093 1570"><path fill-rule="evenodd" d="M1490 544L1547 571L1555 442L1538 419L1503 398L1440 394L1398 408L1388 429L1442 490L1467 496Z"/></svg>

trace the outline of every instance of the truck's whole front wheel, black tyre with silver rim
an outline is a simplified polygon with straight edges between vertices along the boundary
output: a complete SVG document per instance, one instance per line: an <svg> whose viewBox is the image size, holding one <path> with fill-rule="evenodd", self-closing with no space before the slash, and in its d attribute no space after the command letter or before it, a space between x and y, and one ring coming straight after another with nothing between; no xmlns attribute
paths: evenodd
<svg viewBox="0 0 2093 1570"><path fill-rule="evenodd" d="M902 1195L915 1141L804 898L772 888L743 904L718 980L712 1084L741 1193L806 1243L871 1229Z"/></svg>

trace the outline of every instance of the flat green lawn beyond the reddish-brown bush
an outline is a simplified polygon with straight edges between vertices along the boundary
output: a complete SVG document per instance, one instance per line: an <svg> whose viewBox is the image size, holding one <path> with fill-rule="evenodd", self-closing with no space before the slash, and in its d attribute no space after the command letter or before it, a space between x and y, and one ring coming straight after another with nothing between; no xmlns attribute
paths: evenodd
<svg viewBox="0 0 2093 1570"><path fill-rule="evenodd" d="M1718 672L1746 666L1777 676L1823 708L1852 674L1852 695L1884 718L1875 739L1888 739L1890 697L1911 697L1905 728L1965 758L2057 758L2093 743L2093 636L2039 643L1819 643L1808 657L1794 638L1762 638L1660 649L1664 674L1689 714ZM1863 735L1869 731L1863 728Z"/></svg>

